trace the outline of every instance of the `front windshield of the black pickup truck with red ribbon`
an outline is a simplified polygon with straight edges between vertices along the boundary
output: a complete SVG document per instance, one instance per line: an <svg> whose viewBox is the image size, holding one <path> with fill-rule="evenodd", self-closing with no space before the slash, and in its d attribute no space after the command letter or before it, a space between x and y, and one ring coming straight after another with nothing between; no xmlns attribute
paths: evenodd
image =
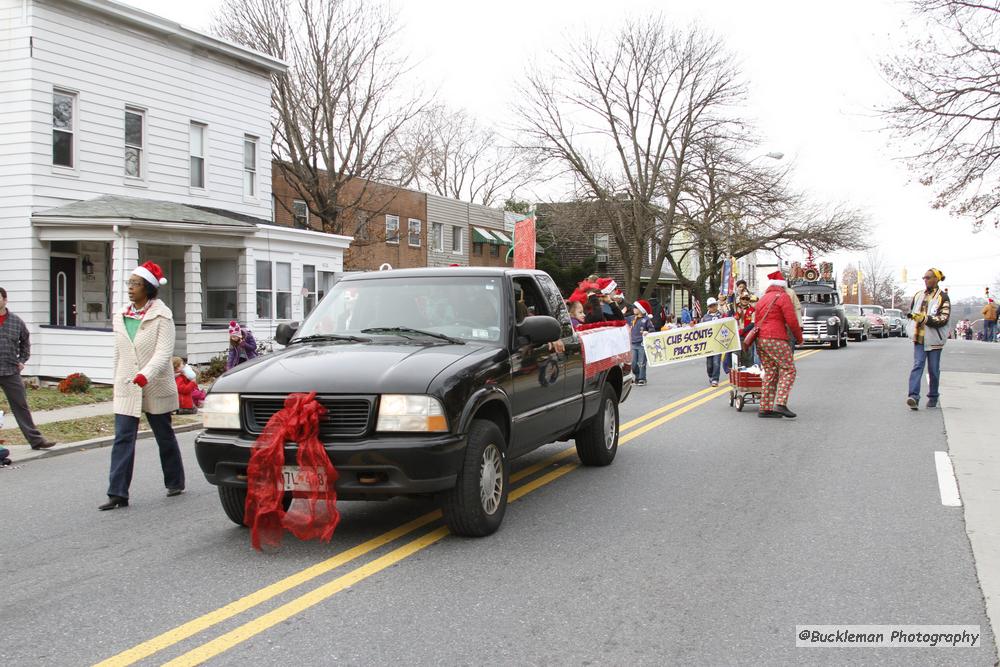
<svg viewBox="0 0 1000 667"><path fill-rule="evenodd" d="M502 299L499 278L342 281L309 315L295 338L404 327L461 340L500 343ZM406 338L412 340L414 336Z"/></svg>

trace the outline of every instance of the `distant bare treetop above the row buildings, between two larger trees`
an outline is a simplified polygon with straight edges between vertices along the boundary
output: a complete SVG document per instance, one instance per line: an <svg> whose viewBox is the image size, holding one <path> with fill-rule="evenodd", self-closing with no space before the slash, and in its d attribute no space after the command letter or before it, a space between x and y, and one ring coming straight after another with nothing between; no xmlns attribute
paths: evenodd
<svg viewBox="0 0 1000 667"><path fill-rule="evenodd" d="M401 137L400 185L485 206L502 204L537 175L535 161L465 110L438 105Z"/></svg>

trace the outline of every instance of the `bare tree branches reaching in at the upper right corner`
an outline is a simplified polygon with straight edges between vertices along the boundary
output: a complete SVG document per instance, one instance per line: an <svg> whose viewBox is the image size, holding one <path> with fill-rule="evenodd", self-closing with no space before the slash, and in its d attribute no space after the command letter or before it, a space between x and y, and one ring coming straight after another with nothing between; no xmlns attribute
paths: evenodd
<svg viewBox="0 0 1000 667"><path fill-rule="evenodd" d="M884 110L935 208L998 223L1000 3L913 0L926 25L909 52L883 63L900 101ZM929 33L929 35L928 35Z"/></svg>

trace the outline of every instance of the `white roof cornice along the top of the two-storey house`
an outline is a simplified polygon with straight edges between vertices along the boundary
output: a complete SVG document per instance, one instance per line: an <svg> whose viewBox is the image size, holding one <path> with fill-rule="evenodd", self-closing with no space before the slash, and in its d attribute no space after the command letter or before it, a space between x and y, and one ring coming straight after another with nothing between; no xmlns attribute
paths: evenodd
<svg viewBox="0 0 1000 667"><path fill-rule="evenodd" d="M268 73L281 74L288 69L288 65L284 61L269 56L266 53L234 44L219 37L206 35L203 32L187 28L180 23L167 20L162 16L157 16L141 9L136 9L135 7L112 2L111 0L64 0L64 2L109 16L122 23L144 28L159 35L165 35L177 41L187 43L190 46L228 56L234 60L266 70Z"/></svg>

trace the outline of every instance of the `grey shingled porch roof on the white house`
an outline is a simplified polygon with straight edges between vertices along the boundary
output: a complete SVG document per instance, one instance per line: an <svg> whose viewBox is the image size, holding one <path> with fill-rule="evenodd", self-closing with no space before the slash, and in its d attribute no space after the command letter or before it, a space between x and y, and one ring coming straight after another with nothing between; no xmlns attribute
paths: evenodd
<svg viewBox="0 0 1000 667"><path fill-rule="evenodd" d="M228 212L227 212L228 213ZM235 217L238 216L238 217ZM57 208L40 211L31 216L35 222L63 222L73 220L133 220L136 222L155 222L177 225L198 225L243 228L253 232L257 225L250 222L248 216L233 213L220 215L194 206L176 202L158 201L154 199L138 199L136 197L117 197L104 195L87 201L76 201ZM252 220L252 218L250 218Z"/></svg>

